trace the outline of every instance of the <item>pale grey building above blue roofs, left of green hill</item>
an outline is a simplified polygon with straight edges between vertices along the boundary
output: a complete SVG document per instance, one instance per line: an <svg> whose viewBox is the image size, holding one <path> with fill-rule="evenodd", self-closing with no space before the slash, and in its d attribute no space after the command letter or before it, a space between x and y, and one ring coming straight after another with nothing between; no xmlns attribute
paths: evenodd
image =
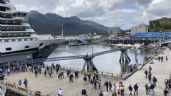
<svg viewBox="0 0 171 96"><path fill-rule="evenodd" d="M148 26L142 23L131 28L131 34L135 34L137 32L148 32Z"/></svg>

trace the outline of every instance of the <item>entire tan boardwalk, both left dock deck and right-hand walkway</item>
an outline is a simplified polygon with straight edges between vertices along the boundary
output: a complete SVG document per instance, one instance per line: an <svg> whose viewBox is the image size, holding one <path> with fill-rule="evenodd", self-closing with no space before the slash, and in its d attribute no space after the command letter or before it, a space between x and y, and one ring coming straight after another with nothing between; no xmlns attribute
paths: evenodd
<svg viewBox="0 0 171 96"><path fill-rule="evenodd" d="M139 95L138 96L152 96L145 94L145 84L148 83L148 79L145 78L144 71L148 69L149 65L152 67L152 76L155 76L157 80L157 87L155 88L155 95L153 96L163 96L163 90L165 88L164 80L170 77L171 74L171 50L166 49L162 52L159 56L164 56L164 61L159 62L154 58L153 64L150 64L152 61L147 63L141 70L138 70L135 74L130 76L128 79L123 81L124 89L125 89L125 96L129 96L128 93L128 86L131 84L132 86L137 83L139 86ZM165 60L165 56L168 57L168 61ZM55 73L55 72L53 72ZM98 96L100 90L105 90L104 82L111 81L112 84L118 82L113 78L103 78L102 80L102 89L93 89L90 83L84 83L83 75L80 75L79 79L74 79L74 83L70 83L68 77L65 73L64 79L58 79L57 75L53 75L52 78L44 77L43 74L38 75L35 77L34 73L32 72L22 72L22 73L15 73L11 74L10 76L6 76L5 82L15 82L18 84L18 81L24 80L24 78L28 79L28 89L32 91L41 91L43 94L49 94L50 96L57 96L58 89L62 88L64 92L64 96L81 96L81 90L85 88L87 90L88 96ZM24 87L22 85L22 87ZM112 96L111 92L110 95L105 96Z"/></svg>

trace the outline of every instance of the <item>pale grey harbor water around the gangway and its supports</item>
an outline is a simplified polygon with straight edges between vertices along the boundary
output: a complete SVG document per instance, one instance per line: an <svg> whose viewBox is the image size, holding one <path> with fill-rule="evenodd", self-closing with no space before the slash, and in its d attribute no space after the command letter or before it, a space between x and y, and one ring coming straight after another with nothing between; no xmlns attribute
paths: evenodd
<svg viewBox="0 0 171 96"><path fill-rule="evenodd" d="M110 50L112 47L103 46L103 45L81 45L81 46L59 46L56 50L49 56L51 57L62 57L62 56L77 56L77 55L86 55L96 52L102 52ZM138 64L143 64L145 56L150 56L152 51L150 50L136 50ZM120 74L120 51L114 51L108 54L97 56L93 59L93 63L99 71ZM135 62L135 50L127 50L127 54L131 59L130 64L136 64ZM44 62L45 65L51 64L60 64L64 67L79 68L82 69L85 61L83 59L74 59L74 60L62 60L55 62Z"/></svg>

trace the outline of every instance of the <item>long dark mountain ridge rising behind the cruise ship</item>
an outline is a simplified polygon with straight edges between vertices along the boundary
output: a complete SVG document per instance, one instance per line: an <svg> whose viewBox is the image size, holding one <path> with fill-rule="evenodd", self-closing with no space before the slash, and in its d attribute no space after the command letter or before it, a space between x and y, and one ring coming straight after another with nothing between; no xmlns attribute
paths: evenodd
<svg viewBox="0 0 171 96"><path fill-rule="evenodd" d="M78 35L86 33L107 32L108 28L92 21L81 20L76 16L62 17L54 13L42 14L30 11L27 15L28 23L38 34L61 34L62 24L64 35Z"/></svg>

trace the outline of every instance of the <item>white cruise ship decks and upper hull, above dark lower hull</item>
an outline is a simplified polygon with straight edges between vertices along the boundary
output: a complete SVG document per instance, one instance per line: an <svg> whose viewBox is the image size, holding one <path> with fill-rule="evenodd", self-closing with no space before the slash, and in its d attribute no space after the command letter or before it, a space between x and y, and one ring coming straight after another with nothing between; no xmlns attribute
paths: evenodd
<svg viewBox="0 0 171 96"><path fill-rule="evenodd" d="M16 11L9 0L0 0L0 55L41 50L65 41L51 35L37 35L26 15L26 12Z"/></svg>

